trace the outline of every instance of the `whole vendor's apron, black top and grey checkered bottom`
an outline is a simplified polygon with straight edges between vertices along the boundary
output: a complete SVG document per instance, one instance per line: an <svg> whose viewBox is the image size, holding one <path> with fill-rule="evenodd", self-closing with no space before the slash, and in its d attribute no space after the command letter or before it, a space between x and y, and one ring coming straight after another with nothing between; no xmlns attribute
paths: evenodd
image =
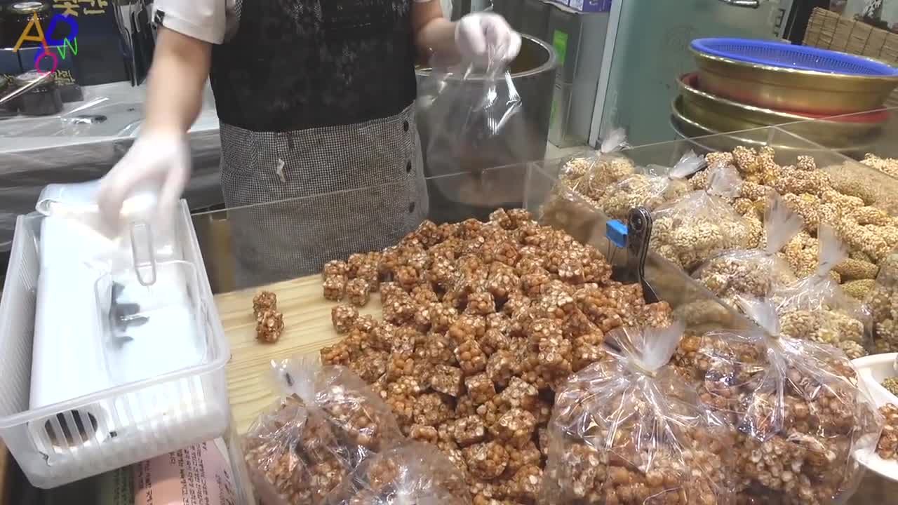
<svg viewBox="0 0 898 505"><path fill-rule="evenodd" d="M410 11L237 0L211 80L238 287L395 244L426 216Z"/></svg>

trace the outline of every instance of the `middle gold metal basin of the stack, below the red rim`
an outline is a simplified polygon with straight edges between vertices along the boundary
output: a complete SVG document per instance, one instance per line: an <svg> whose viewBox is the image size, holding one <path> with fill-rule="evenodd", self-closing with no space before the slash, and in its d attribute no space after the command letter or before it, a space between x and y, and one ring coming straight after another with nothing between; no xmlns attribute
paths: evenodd
<svg viewBox="0 0 898 505"><path fill-rule="evenodd" d="M697 74L682 75L677 79L677 84L682 95L683 114L716 131L741 131L797 123L789 127L790 132L825 147L841 148L873 143L882 135L883 125L889 119L885 111L867 112L841 120L771 111L701 91L697 88Z"/></svg>

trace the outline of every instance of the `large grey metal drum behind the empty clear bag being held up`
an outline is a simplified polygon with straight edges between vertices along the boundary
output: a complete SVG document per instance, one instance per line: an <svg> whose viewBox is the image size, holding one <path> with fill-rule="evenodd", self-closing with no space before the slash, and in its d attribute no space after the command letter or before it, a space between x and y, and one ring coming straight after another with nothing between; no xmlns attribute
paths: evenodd
<svg viewBox="0 0 898 505"><path fill-rule="evenodd" d="M521 52L511 64L512 82L517 93L521 96L522 110L515 114L503 128L503 137L499 143L506 146L502 155L481 156L471 153L464 156L464 176L437 177L427 182L427 190L430 193L430 218L437 222L460 220L463 217L486 217L489 208L519 207L524 195L524 181L515 187L504 184L495 187L489 183L489 178L482 177L480 172L485 169L504 166L507 164L521 164L534 160L542 160L546 155L546 142L549 137L549 123L552 108L552 90L555 83L555 71L558 68L558 58L555 50L541 40L529 35L521 35ZM418 90L427 79L429 71L418 69ZM466 81L449 81L448 85L472 86L479 89L482 84L476 79ZM476 89L472 89L477 93ZM419 92L421 93L421 92ZM417 114L418 133L421 137L421 146L424 150L424 172L427 177L434 177L427 167L427 146L430 140L429 126L433 124L431 118L431 104L434 96L418 94ZM482 208L479 210L478 208Z"/></svg>

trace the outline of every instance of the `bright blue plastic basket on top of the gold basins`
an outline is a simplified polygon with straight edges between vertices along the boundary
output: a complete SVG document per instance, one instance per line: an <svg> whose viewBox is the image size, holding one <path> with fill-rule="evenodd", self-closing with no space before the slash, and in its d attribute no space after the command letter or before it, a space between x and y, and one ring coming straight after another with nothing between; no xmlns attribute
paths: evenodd
<svg viewBox="0 0 898 505"><path fill-rule="evenodd" d="M696 39L691 48L718 58L827 74L893 77L898 69L867 58L827 49L753 39Z"/></svg>

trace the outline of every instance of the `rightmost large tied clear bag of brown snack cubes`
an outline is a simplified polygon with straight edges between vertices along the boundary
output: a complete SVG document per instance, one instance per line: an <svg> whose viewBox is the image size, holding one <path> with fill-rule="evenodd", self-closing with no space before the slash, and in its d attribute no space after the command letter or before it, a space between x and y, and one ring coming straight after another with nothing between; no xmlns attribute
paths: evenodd
<svg viewBox="0 0 898 505"><path fill-rule="evenodd" d="M694 350L702 402L739 432L739 503L841 503L882 420L838 349L779 337L770 302L740 300L764 331L709 332Z"/></svg>

